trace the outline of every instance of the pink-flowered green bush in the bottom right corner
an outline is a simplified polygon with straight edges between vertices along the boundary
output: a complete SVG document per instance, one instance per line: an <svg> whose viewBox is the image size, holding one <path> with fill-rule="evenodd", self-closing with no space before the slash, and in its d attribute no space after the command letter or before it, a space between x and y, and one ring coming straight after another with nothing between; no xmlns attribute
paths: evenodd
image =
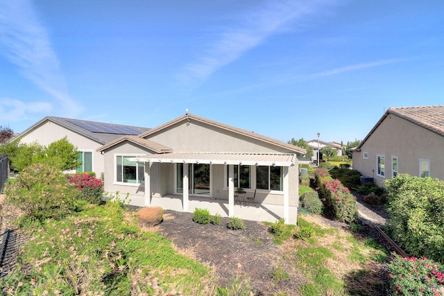
<svg viewBox="0 0 444 296"><path fill-rule="evenodd" d="M432 260L396 256L388 272L389 295L441 295L443 268Z"/></svg>

